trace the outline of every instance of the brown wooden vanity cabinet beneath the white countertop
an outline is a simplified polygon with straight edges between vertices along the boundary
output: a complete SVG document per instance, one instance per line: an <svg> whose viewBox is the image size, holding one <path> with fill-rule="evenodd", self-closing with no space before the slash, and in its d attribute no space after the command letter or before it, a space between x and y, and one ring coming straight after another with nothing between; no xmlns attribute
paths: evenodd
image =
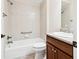
<svg viewBox="0 0 79 59"><path fill-rule="evenodd" d="M47 35L47 59L73 59L73 45Z"/></svg>

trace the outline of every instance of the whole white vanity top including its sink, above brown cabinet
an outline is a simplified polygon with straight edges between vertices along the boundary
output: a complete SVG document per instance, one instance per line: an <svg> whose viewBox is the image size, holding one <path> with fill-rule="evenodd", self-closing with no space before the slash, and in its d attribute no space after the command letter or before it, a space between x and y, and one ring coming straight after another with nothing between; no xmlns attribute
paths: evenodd
<svg viewBox="0 0 79 59"><path fill-rule="evenodd" d="M64 41L69 44L73 44L73 34L72 33L66 33L66 32L53 32L53 33L47 33L51 37L55 37L58 40Z"/></svg>

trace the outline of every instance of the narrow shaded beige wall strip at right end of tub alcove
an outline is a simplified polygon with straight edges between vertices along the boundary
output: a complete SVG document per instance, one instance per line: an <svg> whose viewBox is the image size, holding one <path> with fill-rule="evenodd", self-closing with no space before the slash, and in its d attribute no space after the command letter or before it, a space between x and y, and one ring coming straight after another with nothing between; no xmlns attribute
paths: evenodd
<svg viewBox="0 0 79 59"><path fill-rule="evenodd" d="M40 36L46 39L47 1L43 0L40 6Z"/></svg>

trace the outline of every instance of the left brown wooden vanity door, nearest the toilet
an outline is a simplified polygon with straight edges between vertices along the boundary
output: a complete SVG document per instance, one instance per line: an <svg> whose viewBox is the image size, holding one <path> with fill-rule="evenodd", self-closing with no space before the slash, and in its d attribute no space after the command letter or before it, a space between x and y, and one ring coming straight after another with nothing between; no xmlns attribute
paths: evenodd
<svg viewBox="0 0 79 59"><path fill-rule="evenodd" d="M47 59L55 59L54 47L47 43Z"/></svg>

